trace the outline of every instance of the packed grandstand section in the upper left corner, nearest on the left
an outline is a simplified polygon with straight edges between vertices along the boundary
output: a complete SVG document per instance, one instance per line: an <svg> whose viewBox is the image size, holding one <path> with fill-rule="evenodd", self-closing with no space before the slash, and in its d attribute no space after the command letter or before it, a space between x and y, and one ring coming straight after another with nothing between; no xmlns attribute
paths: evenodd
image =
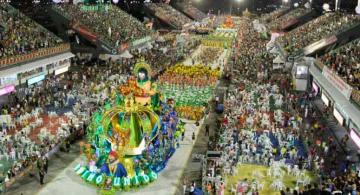
<svg viewBox="0 0 360 195"><path fill-rule="evenodd" d="M69 49L60 38L17 9L9 4L0 4L0 66L29 61Z"/></svg>

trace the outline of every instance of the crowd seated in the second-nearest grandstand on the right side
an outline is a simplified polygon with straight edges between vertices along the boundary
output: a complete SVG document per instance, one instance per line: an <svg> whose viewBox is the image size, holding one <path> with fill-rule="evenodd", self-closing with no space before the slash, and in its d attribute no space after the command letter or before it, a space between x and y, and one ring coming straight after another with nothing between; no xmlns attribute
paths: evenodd
<svg viewBox="0 0 360 195"><path fill-rule="evenodd" d="M325 13L280 37L280 43L287 52L297 52L311 43L335 35L359 22L358 15Z"/></svg>

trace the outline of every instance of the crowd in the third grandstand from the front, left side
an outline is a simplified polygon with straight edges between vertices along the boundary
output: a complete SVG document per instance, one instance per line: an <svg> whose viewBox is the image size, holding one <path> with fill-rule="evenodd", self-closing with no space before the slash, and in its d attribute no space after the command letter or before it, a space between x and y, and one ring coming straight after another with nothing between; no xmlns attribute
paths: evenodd
<svg viewBox="0 0 360 195"><path fill-rule="evenodd" d="M176 28L181 29L185 24L190 23L191 19L180 13L166 3L148 3L149 9L155 12L155 15L162 20L166 20Z"/></svg>

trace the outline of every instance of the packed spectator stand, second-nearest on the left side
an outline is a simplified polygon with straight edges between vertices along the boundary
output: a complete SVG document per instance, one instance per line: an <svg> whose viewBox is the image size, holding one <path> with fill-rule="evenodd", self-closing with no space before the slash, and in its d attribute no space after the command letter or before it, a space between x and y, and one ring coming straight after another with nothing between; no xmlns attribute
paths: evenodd
<svg viewBox="0 0 360 195"><path fill-rule="evenodd" d="M150 29L118 7L110 6L107 10L87 11L82 9L82 6L82 4L57 4L52 7L52 17L63 18L61 21L65 26L95 44L100 53L121 54L133 46L152 39L153 32ZM113 18L122 18L122 20L113 20Z"/></svg>

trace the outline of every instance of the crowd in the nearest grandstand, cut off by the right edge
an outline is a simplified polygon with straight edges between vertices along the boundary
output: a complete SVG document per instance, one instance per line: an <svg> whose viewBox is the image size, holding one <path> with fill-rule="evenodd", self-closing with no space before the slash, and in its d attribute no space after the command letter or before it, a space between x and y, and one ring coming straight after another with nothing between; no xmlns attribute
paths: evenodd
<svg viewBox="0 0 360 195"><path fill-rule="evenodd" d="M360 90L360 39L326 53L321 61L355 90Z"/></svg>

